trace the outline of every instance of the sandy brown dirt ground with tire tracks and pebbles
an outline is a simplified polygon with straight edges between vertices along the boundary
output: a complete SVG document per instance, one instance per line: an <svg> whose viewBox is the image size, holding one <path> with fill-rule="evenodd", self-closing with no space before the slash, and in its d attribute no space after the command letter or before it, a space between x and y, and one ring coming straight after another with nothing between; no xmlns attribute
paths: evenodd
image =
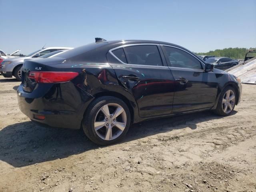
<svg viewBox="0 0 256 192"><path fill-rule="evenodd" d="M0 76L1 192L255 192L256 85L231 116L200 112L131 126L124 142L35 126L18 108L20 82Z"/></svg>

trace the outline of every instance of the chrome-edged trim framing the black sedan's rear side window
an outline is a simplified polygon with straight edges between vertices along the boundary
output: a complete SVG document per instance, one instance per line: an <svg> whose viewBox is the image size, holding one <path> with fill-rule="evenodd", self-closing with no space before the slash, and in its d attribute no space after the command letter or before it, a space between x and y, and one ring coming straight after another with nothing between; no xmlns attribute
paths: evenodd
<svg viewBox="0 0 256 192"><path fill-rule="evenodd" d="M157 49L158 49L158 52L159 52L159 56L160 56L160 58L161 58L161 60L162 60L163 66L140 65L140 64L128 64L128 63L124 63L124 62L122 62L117 56L115 56L114 53L112 53L112 51L114 51L114 50L116 50L116 49L119 49L119 48L124 48L124 47L129 47L129 46L140 46L140 45L156 45L156 47L157 47ZM147 67L164 67L164 68L168 68L168 66L164 66L164 61L163 61L163 58L162 58L162 55L161 55L161 50L159 50L159 47L158 47L158 46L160 46L160 44L158 44L158 43L136 43L136 44L127 44L127 45L121 45L121 46L112 48L112 49L110 49L108 52L110 52L110 54L111 54L112 56L114 56L114 58L116 58L119 62L121 62L122 64L125 64L125 65L147 66ZM124 51L124 54L126 54L125 51ZM126 58L126 60L127 60L127 58Z"/></svg>

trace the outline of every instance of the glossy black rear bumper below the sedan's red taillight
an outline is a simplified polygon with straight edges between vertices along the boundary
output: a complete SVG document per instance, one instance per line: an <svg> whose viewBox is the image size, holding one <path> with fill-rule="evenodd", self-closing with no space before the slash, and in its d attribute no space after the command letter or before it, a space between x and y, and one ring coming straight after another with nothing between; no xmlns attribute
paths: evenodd
<svg viewBox="0 0 256 192"><path fill-rule="evenodd" d="M53 86L47 94L39 98L28 98L28 92L24 92L21 85L17 93L18 106L22 113L32 121L58 128L79 129L86 107L92 100L92 96L84 94L83 90L76 89L71 83ZM44 116L44 119L40 120L37 116Z"/></svg>

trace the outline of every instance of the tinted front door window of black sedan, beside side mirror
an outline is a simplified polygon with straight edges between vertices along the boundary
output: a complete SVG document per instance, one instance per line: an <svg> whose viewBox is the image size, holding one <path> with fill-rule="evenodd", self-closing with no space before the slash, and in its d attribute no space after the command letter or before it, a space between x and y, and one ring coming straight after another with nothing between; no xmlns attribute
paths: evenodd
<svg viewBox="0 0 256 192"><path fill-rule="evenodd" d="M187 52L169 46L164 46L164 49L172 67L202 69L200 61Z"/></svg>

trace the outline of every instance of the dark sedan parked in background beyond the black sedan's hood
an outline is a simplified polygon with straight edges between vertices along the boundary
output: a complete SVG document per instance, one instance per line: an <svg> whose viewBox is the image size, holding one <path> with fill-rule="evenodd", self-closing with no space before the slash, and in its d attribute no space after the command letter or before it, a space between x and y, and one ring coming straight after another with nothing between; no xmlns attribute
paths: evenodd
<svg viewBox="0 0 256 192"><path fill-rule="evenodd" d="M227 57L214 57L205 61L206 63L214 64L214 68L226 70L238 64L238 60Z"/></svg>

